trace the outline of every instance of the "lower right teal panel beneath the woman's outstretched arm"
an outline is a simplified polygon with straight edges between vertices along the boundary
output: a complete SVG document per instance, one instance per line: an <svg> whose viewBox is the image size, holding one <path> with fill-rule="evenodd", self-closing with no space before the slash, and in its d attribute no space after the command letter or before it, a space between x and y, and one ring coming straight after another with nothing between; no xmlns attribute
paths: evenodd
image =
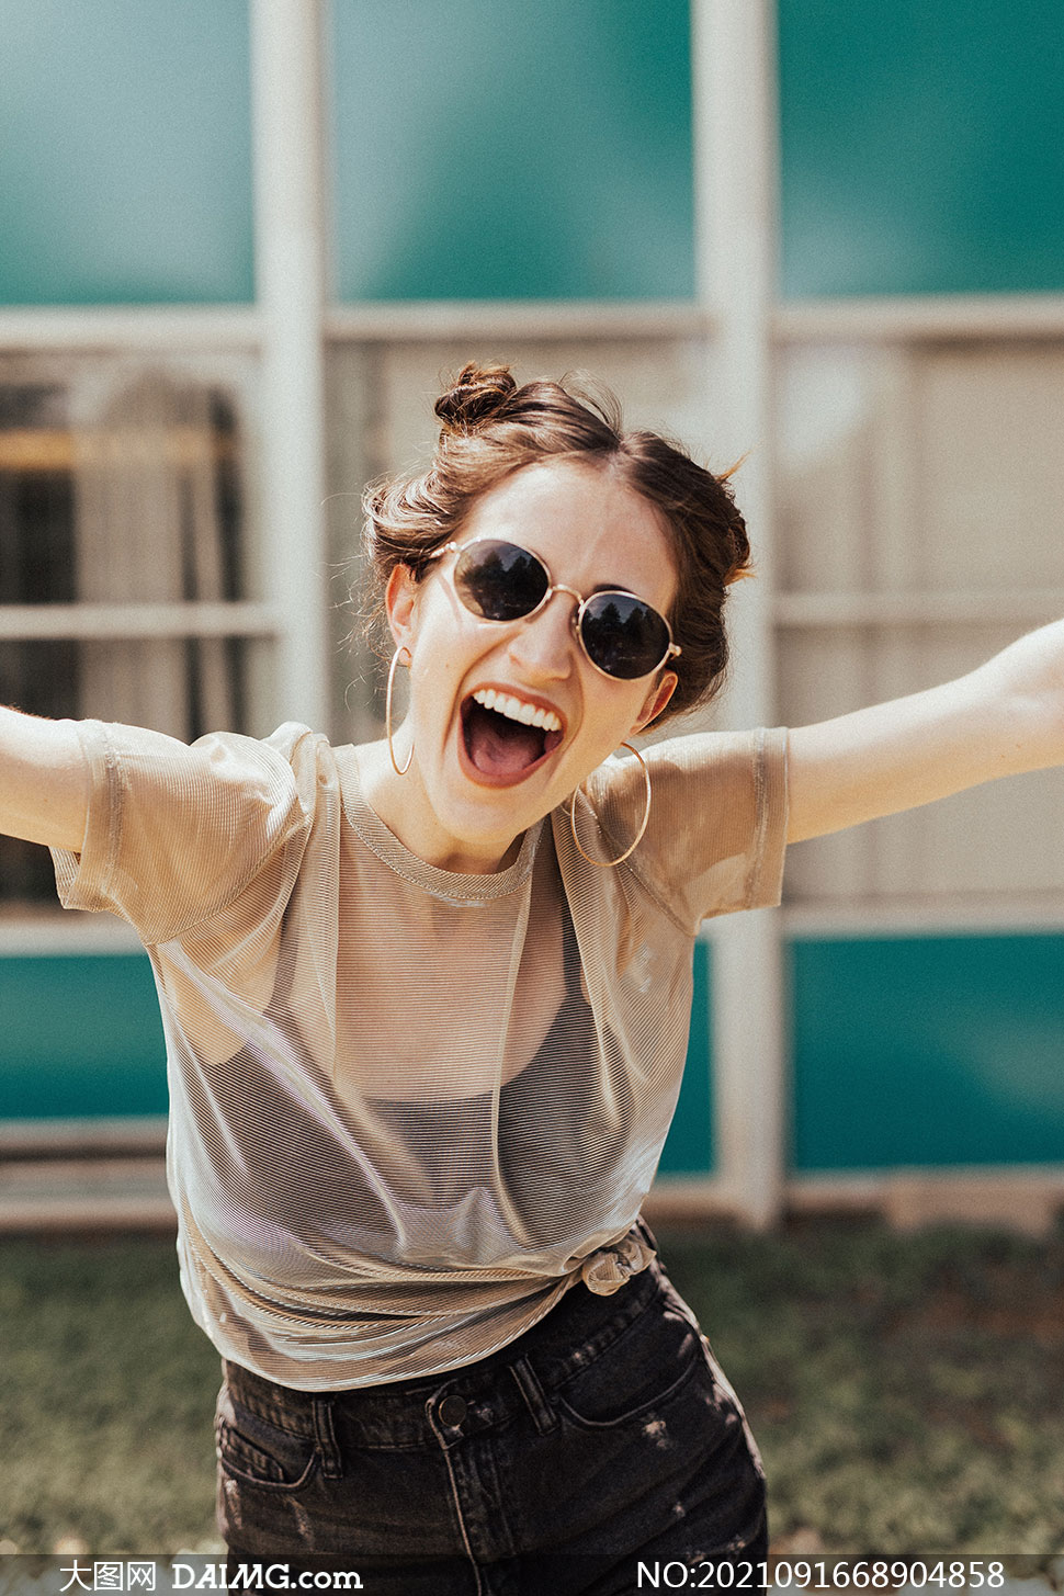
<svg viewBox="0 0 1064 1596"><path fill-rule="evenodd" d="M1064 1160L1064 937L798 942L794 1167Z"/></svg>

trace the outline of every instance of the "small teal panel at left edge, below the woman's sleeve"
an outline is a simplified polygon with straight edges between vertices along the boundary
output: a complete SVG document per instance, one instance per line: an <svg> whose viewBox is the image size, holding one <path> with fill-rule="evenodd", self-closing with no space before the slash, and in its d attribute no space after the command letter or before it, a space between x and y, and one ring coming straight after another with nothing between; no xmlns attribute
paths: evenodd
<svg viewBox="0 0 1064 1596"><path fill-rule="evenodd" d="M0 1119L166 1114L145 954L0 958Z"/></svg>

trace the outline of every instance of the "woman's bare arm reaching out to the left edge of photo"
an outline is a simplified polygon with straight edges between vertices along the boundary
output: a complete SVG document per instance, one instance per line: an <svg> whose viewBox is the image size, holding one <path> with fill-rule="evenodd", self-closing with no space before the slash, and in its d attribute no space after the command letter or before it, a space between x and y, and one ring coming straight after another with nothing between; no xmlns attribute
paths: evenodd
<svg viewBox="0 0 1064 1596"><path fill-rule="evenodd" d="M88 772L75 723L0 707L0 832L81 851Z"/></svg>

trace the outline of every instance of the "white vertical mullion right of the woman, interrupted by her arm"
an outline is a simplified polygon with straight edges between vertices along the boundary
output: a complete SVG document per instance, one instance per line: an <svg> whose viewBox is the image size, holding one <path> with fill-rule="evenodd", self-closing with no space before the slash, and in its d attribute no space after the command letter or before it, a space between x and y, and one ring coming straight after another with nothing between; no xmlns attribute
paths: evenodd
<svg viewBox="0 0 1064 1596"><path fill-rule="evenodd" d="M769 0L692 0L697 281L715 316L707 391L715 463L751 450L735 480L758 567L732 598L731 725L775 718L772 630L772 322L775 311L775 45ZM707 361L708 369L708 361ZM707 370L707 389L710 389ZM713 922L713 1057L721 1181L751 1224L783 1202L785 1061L778 916Z"/></svg>

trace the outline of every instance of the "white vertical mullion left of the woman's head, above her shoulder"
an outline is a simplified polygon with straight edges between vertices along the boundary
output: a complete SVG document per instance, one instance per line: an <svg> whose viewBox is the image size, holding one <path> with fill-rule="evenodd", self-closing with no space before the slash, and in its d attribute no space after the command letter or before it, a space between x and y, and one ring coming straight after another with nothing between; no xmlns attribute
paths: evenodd
<svg viewBox="0 0 1064 1596"><path fill-rule="evenodd" d="M282 718L329 723L319 0L252 0L263 576Z"/></svg>

